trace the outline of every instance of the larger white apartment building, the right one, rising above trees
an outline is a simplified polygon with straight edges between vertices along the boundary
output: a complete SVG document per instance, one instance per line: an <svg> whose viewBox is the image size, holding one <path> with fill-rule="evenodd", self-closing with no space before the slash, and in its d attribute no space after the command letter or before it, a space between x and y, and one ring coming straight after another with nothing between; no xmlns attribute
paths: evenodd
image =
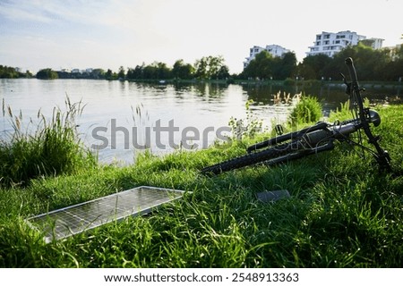
<svg viewBox="0 0 403 286"><path fill-rule="evenodd" d="M309 52L306 55L329 55L333 56L346 46L356 46L365 36L357 35L356 32L349 30L340 31L338 33L322 32L316 35L313 46L309 46ZM379 45L379 41L377 42ZM382 42L381 42L382 46Z"/></svg>

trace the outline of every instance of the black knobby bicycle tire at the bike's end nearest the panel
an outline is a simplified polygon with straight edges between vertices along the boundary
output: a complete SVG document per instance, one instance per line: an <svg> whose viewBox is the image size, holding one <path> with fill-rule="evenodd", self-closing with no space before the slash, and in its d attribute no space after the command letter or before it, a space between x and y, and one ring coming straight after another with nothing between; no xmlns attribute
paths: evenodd
<svg viewBox="0 0 403 286"><path fill-rule="evenodd" d="M273 158L285 156L290 151L296 152L298 149L304 149L299 140L292 141L286 144L279 145L277 147L271 147L260 152L249 153L244 156L239 156L219 164L213 164L211 166L201 169L202 174L206 175L218 175L221 172L227 172L236 170L253 164L259 164L268 161ZM286 161L284 158L282 162ZM278 162L281 163L281 162Z"/></svg>

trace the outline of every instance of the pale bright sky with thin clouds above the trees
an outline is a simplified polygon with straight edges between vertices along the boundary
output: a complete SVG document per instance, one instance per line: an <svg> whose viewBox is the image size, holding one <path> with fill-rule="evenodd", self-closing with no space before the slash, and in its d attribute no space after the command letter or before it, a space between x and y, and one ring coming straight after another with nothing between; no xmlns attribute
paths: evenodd
<svg viewBox="0 0 403 286"><path fill-rule="evenodd" d="M0 64L118 71L222 55L243 70L252 46L304 59L316 34L356 31L402 43L401 0L0 0Z"/></svg>

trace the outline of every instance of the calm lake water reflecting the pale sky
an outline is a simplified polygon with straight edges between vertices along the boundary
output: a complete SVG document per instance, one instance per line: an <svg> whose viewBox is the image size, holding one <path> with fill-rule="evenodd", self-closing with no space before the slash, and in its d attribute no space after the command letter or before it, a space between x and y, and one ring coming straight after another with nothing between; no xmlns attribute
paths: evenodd
<svg viewBox="0 0 403 286"><path fill-rule="evenodd" d="M306 94L317 96L323 113L329 114L347 100L344 89L330 85ZM370 88L368 88L370 89ZM399 97L400 90L376 88L372 99ZM14 114L21 110L23 122L35 121L38 111L51 117L53 108L65 110L65 99L81 101L85 107L78 119L81 139L98 149L103 163L133 162L136 152L150 147L152 153L166 154L175 148L207 147L217 137L227 134L228 121L233 116L246 118L245 103L253 99L253 115L263 124L284 122L300 88L286 90L276 86L216 85L152 85L128 81L107 80L0 80L0 99L10 105ZM280 99L278 97L280 95ZM295 103L295 102L294 102ZM11 132L7 116L0 117L0 138Z"/></svg>

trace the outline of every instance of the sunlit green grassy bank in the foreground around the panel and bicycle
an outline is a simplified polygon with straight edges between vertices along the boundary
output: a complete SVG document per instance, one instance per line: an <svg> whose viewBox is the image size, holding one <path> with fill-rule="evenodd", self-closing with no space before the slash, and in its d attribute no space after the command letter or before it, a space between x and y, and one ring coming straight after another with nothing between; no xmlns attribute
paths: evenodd
<svg viewBox="0 0 403 286"><path fill-rule="evenodd" d="M403 106L380 110L382 146L403 169ZM131 166L93 166L0 189L0 267L400 267L403 178L377 172L351 147L278 167L204 177L230 148L142 155ZM192 191L152 214L45 244L23 218L150 185ZM287 189L262 203L255 194Z"/></svg>

